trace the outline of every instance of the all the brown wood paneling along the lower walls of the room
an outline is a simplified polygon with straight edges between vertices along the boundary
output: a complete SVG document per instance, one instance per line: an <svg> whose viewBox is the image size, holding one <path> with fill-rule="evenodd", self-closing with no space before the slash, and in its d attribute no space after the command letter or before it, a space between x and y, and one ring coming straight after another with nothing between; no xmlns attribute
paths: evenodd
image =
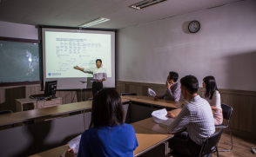
<svg viewBox="0 0 256 157"><path fill-rule="evenodd" d="M148 88L152 88L158 95L165 94L164 84L142 83L142 82L117 82L117 91L121 93L138 93L138 95L148 95ZM199 88L199 95L203 97L204 88ZM232 106L232 134L239 137L256 141L256 92L219 89L222 103ZM18 87L0 88L0 110L10 109L16 111L15 99L29 97L30 95L43 94L41 85L27 85ZM87 101L92 97L91 89L57 91L57 96L63 98L63 104ZM184 99L180 98L180 101ZM226 122L226 121L225 121Z"/></svg>

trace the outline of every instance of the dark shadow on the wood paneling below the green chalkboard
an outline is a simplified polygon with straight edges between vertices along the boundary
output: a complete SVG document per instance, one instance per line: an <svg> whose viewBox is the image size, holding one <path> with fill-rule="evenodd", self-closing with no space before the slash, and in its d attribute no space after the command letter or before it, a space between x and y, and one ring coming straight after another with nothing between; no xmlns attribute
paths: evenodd
<svg viewBox="0 0 256 157"><path fill-rule="evenodd" d="M6 88L4 89L5 101L0 103L0 111L11 110L12 112L16 111L16 99L22 99L26 97L26 88Z"/></svg>

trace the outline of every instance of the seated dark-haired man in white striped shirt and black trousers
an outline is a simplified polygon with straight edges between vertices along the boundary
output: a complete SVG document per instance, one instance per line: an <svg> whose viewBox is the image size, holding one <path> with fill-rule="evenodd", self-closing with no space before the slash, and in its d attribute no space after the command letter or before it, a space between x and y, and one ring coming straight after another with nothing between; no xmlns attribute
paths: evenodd
<svg viewBox="0 0 256 157"><path fill-rule="evenodd" d="M181 95L189 103L182 108L178 116L171 112L167 114L174 119L167 128L168 133L175 134L169 141L169 147L185 156L199 156L205 138L215 132L212 109L208 101L197 94L199 81L195 76L186 75L180 83ZM185 129L187 132L182 132Z"/></svg>

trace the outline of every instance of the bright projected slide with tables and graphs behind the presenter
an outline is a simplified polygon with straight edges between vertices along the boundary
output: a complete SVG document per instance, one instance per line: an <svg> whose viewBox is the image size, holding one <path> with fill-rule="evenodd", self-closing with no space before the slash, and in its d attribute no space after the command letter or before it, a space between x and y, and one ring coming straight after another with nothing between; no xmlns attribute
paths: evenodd
<svg viewBox="0 0 256 157"><path fill-rule="evenodd" d="M45 77L92 77L74 69L96 67L102 60L107 77L111 77L111 35L45 31Z"/></svg>

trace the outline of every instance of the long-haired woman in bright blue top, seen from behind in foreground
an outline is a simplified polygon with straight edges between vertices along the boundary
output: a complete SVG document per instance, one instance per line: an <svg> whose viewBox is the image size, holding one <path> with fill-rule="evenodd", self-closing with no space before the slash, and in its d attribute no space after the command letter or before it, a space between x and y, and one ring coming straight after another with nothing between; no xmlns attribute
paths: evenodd
<svg viewBox="0 0 256 157"><path fill-rule="evenodd" d="M93 96L91 125L82 134L77 157L133 156L138 147L134 129L125 124L124 109L118 92L101 89ZM69 149L65 157L74 157Z"/></svg>

